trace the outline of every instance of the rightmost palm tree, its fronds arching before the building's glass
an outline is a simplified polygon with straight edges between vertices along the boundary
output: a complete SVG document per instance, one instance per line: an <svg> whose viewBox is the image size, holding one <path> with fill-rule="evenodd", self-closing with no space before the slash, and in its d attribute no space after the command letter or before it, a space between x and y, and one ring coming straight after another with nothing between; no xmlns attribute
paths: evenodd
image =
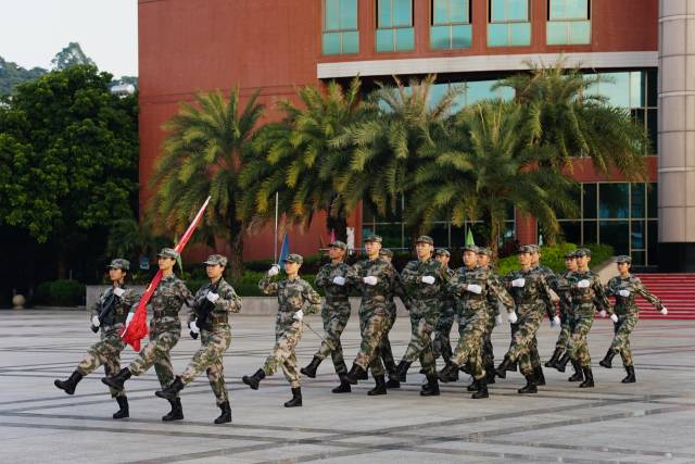
<svg viewBox="0 0 695 464"><path fill-rule="evenodd" d="M609 106L592 86L609 80L566 70L565 61L551 66L528 63L529 73L519 73L497 83L510 87L522 105L525 117L538 146L551 145L557 155L547 162L571 172L572 156L589 156L597 172L618 167L630 180L644 181L644 155L649 140L644 127L626 109Z"/></svg>

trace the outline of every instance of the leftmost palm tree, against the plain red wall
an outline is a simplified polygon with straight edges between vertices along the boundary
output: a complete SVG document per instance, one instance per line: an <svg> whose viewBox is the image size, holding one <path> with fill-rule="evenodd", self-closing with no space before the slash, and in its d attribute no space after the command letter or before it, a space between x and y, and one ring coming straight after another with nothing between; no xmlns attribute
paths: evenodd
<svg viewBox="0 0 695 464"><path fill-rule="evenodd" d="M160 229L181 231L211 197L197 237L213 247L216 238L229 242L232 278L240 277L243 268L239 174L249 161L244 150L264 110L257 97L258 91L249 97L243 109L239 88L227 98L212 91L197 95L193 104L181 103L178 114L164 124L169 135L150 183L152 223Z"/></svg>

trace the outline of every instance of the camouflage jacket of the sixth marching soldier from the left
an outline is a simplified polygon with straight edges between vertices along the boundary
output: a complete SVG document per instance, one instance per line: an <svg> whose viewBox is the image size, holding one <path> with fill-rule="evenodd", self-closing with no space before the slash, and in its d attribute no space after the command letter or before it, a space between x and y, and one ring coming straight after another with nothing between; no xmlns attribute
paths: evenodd
<svg viewBox="0 0 695 464"><path fill-rule="evenodd" d="M361 312L386 312L389 299L399 291L400 277L393 264L381 258L362 260L352 266L353 285L362 293ZM367 285L362 279L377 277L377 285Z"/></svg>

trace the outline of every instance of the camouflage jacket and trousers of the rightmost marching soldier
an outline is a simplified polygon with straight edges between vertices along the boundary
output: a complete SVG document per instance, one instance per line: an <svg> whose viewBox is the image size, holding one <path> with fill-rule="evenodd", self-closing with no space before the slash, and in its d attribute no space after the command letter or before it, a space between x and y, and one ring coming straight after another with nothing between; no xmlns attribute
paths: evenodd
<svg viewBox="0 0 695 464"><path fill-rule="evenodd" d="M620 296L621 290L630 292L628 297ZM615 337L610 343L610 350L620 353L622 364L632 366L632 350L630 349L630 334L637 325L640 317L640 308L635 304L634 299L639 294L647 300L657 311L661 311L664 305L661 301L652 294L642 284L640 277L630 275L627 278L616 276L608 280L606 286L608 296L616 297L616 305L614 308L618 322L615 324Z"/></svg>

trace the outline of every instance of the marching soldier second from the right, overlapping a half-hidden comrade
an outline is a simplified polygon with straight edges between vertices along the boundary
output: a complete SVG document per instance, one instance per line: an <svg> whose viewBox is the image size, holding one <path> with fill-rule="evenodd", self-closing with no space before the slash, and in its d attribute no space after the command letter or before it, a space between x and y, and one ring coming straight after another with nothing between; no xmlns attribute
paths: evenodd
<svg viewBox="0 0 695 464"><path fill-rule="evenodd" d="M589 269L591 250L580 248L574 255L577 256L578 269L571 276L566 289L572 304L573 317L570 324L572 333L570 334L568 355L558 361L558 366L561 372L568 359L571 359L574 367L581 368L581 372L579 375L570 377L569 381L579 381L583 378L584 381L579 387L591 388L594 386L594 375L591 371L591 354L586 336L594 324L594 314L599 311L601 315L605 317L606 313L609 313L614 323L618 322L618 316L612 312L598 276Z"/></svg>

